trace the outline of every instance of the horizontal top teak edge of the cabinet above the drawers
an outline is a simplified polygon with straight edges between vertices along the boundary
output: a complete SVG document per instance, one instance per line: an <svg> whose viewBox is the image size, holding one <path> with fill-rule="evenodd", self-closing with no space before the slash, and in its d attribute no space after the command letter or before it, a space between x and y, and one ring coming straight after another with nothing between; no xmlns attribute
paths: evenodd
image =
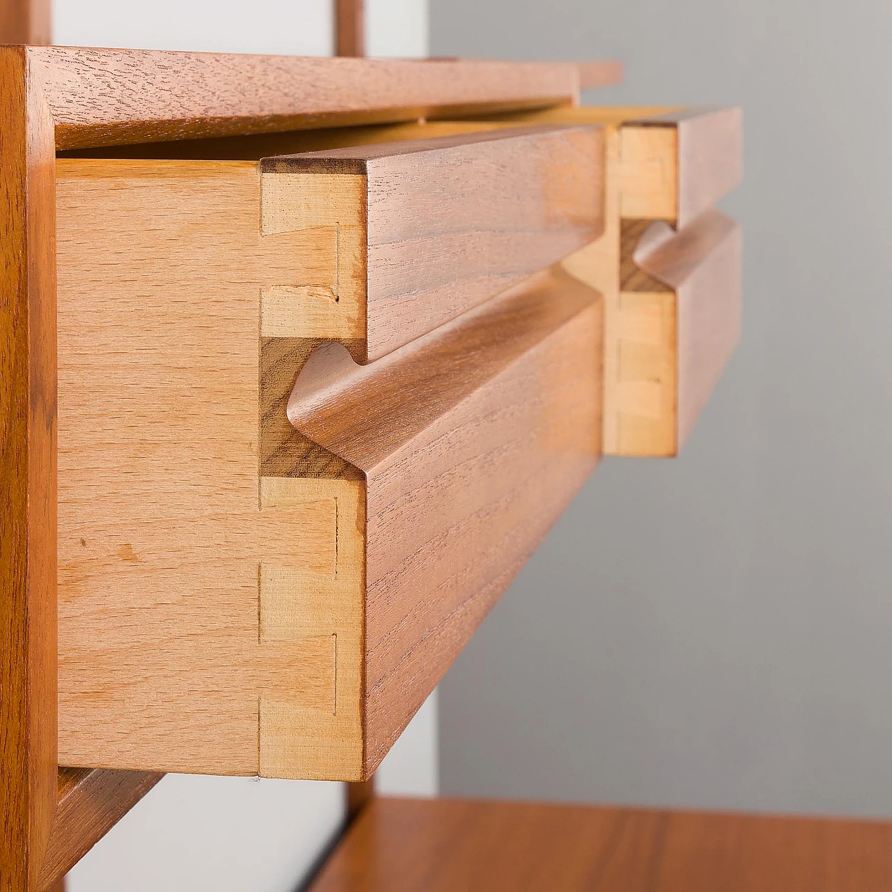
<svg viewBox="0 0 892 892"><path fill-rule="evenodd" d="M57 148L450 118L572 103L560 62L428 62L31 47Z"/></svg>

